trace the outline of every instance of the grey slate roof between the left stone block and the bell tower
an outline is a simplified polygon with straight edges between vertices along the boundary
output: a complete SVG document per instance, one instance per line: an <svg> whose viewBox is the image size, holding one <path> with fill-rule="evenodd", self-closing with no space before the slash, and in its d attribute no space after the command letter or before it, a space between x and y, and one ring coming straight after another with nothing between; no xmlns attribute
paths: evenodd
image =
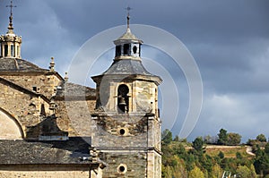
<svg viewBox="0 0 269 178"><path fill-rule="evenodd" d="M63 81L56 91L56 97L95 97L95 89Z"/></svg>

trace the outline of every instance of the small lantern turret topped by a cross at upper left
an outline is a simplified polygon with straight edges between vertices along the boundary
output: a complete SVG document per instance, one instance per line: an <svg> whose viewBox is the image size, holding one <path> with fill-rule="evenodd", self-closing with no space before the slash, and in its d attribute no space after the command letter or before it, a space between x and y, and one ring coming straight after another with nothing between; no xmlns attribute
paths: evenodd
<svg viewBox="0 0 269 178"><path fill-rule="evenodd" d="M9 25L8 30L5 35L0 36L0 45L1 45L1 53L0 57L4 58L22 58L21 56L21 45L22 45L22 37L17 36L13 32L13 1L11 1L10 5L10 16L9 16Z"/></svg>

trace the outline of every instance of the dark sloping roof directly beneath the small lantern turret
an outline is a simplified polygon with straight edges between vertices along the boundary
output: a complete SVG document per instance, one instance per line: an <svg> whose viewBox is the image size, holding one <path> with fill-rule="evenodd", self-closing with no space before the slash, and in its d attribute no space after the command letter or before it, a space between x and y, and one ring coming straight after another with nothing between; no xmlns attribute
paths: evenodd
<svg viewBox="0 0 269 178"><path fill-rule="evenodd" d="M25 72L48 72L46 69L39 68L35 64L18 59L18 58L0 58L0 72L1 71L25 71Z"/></svg>

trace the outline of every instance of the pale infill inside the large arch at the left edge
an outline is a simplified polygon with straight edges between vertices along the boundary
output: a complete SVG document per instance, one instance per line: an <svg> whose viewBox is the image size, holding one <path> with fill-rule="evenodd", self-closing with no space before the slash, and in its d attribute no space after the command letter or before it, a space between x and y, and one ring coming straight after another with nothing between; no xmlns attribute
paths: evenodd
<svg viewBox="0 0 269 178"><path fill-rule="evenodd" d="M0 139L15 140L24 139L22 125L3 108L0 107Z"/></svg>

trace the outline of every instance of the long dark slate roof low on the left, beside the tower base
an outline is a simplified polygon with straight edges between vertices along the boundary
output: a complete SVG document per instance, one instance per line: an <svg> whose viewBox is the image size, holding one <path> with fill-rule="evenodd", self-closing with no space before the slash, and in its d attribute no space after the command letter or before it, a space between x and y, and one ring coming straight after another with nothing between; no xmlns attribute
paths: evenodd
<svg viewBox="0 0 269 178"><path fill-rule="evenodd" d="M0 165L91 164L85 158L90 157L89 147L79 137L61 141L0 140Z"/></svg>

